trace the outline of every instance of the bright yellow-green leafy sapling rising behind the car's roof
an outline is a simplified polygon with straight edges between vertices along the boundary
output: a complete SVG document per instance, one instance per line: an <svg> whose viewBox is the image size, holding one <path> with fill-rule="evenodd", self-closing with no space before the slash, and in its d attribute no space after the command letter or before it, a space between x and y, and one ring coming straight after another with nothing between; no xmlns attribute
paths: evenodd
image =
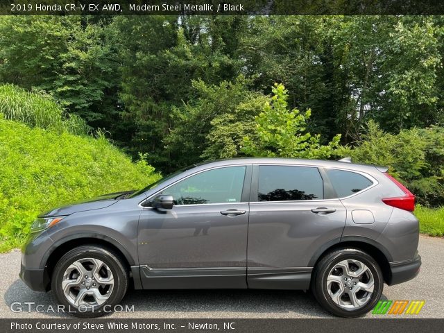
<svg viewBox="0 0 444 333"><path fill-rule="evenodd" d="M255 135L244 139L244 153L266 157L330 157L339 146L341 135L335 135L332 142L322 145L320 135L306 131L311 110L305 113L298 109L288 110L288 92L282 84L276 83L272 92L264 110L255 117Z"/></svg>

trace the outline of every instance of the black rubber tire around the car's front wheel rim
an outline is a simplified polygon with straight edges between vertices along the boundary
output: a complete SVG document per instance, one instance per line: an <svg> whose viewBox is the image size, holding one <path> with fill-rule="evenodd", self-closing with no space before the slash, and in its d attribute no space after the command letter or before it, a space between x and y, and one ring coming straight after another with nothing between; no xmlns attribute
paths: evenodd
<svg viewBox="0 0 444 333"><path fill-rule="evenodd" d="M110 268L114 278L114 286L111 295L101 305L95 305L92 309L77 309L74 305L69 303L62 290L63 275L67 268L79 259L95 258L101 260ZM56 264L51 279L51 289L56 296L58 304L65 306L65 312L80 318L94 318L100 317L112 312L114 305L117 305L125 296L128 289L129 277L128 271L123 264L122 259L109 248L99 245L83 245L69 250L63 255Z"/></svg>

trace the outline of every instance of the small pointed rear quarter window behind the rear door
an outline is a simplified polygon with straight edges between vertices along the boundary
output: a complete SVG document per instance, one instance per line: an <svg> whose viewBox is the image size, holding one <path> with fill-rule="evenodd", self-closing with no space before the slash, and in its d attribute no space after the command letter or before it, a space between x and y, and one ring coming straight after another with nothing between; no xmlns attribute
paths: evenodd
<svg viewBox="0 0 444 333"><path fill-rule="evenodd" d="M373 185L371 180L356 172L335 169L325 171L339 198L351 196Z"/></svg>

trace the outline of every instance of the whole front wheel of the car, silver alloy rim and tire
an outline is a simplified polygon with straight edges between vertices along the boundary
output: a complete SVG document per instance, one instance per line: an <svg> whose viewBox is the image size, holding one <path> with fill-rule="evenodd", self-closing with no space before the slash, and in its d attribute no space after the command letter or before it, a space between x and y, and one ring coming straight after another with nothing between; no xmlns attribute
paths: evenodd
<svg viewBox="0 0 444 333"><path fill-rule="evenodd" d="M128 289L128 271L119 256L100 246L79 246L56 264L51 282L65 311L78 317L112 312Z"/></svg>

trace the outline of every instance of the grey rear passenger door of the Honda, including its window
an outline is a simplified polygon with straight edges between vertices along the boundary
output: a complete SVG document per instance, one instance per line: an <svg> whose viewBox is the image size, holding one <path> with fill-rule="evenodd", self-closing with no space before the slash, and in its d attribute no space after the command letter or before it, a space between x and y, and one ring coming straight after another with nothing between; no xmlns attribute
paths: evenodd
<svg viewBox="0 0 444 333"><path fill-rule="evenodd" d="M345 207L322 168L261 164L253 168L248 227L250 288L307 289L310 260L339 241Z"/></svg>

